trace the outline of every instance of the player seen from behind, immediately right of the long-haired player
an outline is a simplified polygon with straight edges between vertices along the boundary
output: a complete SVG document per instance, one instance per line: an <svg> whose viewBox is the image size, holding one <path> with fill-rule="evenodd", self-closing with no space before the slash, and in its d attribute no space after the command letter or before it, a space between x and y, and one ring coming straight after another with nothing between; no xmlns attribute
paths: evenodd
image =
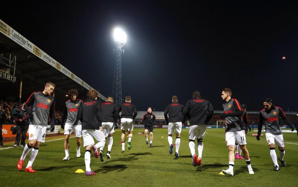
<svg viewBox="0 0 298 187"><path fill-rule="evenodd" d="M102 127L105 129L105 133L109 137L108 139L108 151L106 153L107 159L111 158L111 149L113 145L113 134L115 132L114 127L117 125L117 120L119 118L119 107L114 103L112 96L108 96L106 102L102 103ZM101 147L101 152L103 152L103 147ZM103 161L103 158L101 158Z"/></svg>

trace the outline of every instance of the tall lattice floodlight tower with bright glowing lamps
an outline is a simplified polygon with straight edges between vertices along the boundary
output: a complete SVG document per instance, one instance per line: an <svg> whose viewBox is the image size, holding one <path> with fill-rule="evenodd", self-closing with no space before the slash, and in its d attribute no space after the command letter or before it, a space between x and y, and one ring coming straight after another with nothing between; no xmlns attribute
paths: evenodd
<svg viewBox="0 0 298 187"><path fill-rule="evenodd" d="M116 43L115 53L115 68L113 79L112 96L115 103L122 104L122 82L121 82L121 54L124 53L122 47L126 43L126 33L119 28L114 30L114 41Z"/></svg>

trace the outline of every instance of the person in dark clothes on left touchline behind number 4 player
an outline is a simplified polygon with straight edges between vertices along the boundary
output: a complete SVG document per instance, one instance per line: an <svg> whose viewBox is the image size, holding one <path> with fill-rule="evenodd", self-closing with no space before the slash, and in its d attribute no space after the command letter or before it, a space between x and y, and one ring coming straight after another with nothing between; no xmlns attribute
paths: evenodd
<svg viewBox="0 0 298 187"><path fill-rule="evenodd" d="M16 142L13 147L19 147L20 144L20 139L21 139L21 134L22 134L22 139L21 139L21 145L20 147L25 147L25 140L27 138L27 131L29 128L29 116L24 110L24 105L23 103L22 108L20 110L16 111L16 117L15 117L15 125L19 126L20 128L18 129L18 132L16 134Z"/></svg>

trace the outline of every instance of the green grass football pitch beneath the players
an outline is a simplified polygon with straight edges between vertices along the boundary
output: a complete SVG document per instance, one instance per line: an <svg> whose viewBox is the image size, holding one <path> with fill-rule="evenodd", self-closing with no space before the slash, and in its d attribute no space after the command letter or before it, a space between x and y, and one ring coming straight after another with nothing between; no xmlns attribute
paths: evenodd
<svg viewBox="0 0 298 187"><path fill-rule="evenodd" d="M64 136L47 137L39 147L38 155L33 163L36 173L25 172L29 154L22 170L16 168L23 152L23 147L0 150L1 175L0 186L297 186L298 171L298 137L296 133L283 133L285 140L285 162L287 167L273 171L273 162L269 154L269 146L265 136L257 141L249 132L246 136L250 153L251 166L255 171L249 175L245 160L235 160L234 176L219 175L228 167L228 148L225 144L224 129L207 129L204 142L202 165L192 166L192 156L188 147L188 131L182 129L179 158L175 158L175 146L169 154L167 129L154 129L153 147L146 145L143 129L135 128L131 150L121 153L120 130L114 133L111 159L101 162L91 158L91 169L94 176L85 173L84 147L81 157L76 157L75 138L70 138L70 160L64 158ZM138 135L138 133L141 135ZM264 132L262 132L264 134ZM74 137L72 134L71 137ZM163 137L163 138L162 138ZM173 143L175 143L173 135ZM58 140L60 139L60 140ZM83 138L82 138L83 139ZM50 141L55 140L55 141ZM197 147L197 143L196 147ZM13 142L11 143L12 146ZM2 147L6 148L6 147ZM106 155L107 145L104 148ZM197 148L196 148L197 153ZM277 157L279 151L276 146ZM280 164L280 163L279 163Z"/></svg>

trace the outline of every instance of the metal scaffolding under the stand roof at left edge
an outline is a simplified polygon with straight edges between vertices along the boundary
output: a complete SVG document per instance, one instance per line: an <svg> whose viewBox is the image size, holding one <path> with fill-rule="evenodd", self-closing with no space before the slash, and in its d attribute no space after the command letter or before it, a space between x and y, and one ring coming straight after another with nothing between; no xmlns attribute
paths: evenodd
<svg viewBox="0 0 298 187"><path fill-rule="evenodd" d="M16 82L15 77L16 72L16 55L11 59L11 54L9 54L9 59L3 57L3 54L0 54L0 82ZM6 79L2 81L2 79Z"/></svg>

